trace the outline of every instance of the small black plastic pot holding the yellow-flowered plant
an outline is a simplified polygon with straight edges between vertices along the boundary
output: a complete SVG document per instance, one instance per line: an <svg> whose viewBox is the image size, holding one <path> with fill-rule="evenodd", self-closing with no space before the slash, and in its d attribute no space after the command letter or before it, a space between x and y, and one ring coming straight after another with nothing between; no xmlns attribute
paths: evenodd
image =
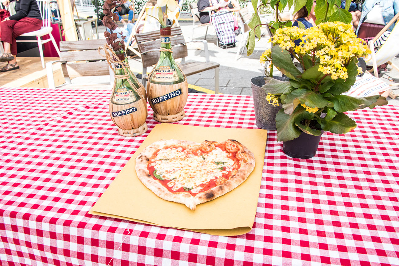
<svg viewBox="0 0 399 266"><path fill-rule="evenodd" d="M317 148L319 146L320 136L314 136L302 132L299 137L292 141L283 141L282 150L284 153L292 158L309 159L316 155Z"/></svg>

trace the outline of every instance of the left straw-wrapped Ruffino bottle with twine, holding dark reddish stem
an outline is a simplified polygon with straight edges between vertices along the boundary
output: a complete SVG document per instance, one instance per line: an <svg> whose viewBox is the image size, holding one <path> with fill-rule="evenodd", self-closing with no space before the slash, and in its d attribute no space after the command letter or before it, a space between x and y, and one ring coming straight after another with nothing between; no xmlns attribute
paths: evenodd
<svg viewBox="0 0 399 266"><path fill-rule="evenodd" d="M129 71L126 70L124 51L119 50L115 55L115 81L109 101L109 113L119 128L120 135L138 136L147 131L147 102L139 88L134 86L132 77L126 73Z"/></svg>

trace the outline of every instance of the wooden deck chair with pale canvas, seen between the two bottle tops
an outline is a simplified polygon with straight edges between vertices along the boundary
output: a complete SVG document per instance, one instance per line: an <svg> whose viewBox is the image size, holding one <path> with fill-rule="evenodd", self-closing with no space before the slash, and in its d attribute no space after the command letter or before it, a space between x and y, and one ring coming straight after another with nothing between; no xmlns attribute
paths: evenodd
<svg viewBox="0 0 399 266"><path fill-rule="evenodd" d="M136 35L136 31L138 27L142 24L141 23L142 21L144 21L144 25L140 33L159 30L160 23L155 18L158 18L158 8L156 8L155 6L150 6L150 7L144 6L142 8L136 20L136 24L134 25L132 34L130 34L128 38L126 44L126 51L127 49L129 49L130 51L141 57L141 54L137 51L138 48L137 48L137 43L134 40L134 35ZM130 42L131 44L129 45Z"/></svg>

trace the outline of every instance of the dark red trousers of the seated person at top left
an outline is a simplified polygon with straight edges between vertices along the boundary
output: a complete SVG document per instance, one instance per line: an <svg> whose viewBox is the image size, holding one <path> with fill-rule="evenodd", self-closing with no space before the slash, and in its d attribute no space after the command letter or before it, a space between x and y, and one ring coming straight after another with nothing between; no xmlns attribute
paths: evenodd
<svg viewBox="0 0 399 266"><path fill-rule="evenodd" d="M4 20L1 22L0 39L2 42L11 44L11 54L17 54L17 43L15 38L19 35L41 28L41 20L37 18L22 18L20 20Z"/></svg>

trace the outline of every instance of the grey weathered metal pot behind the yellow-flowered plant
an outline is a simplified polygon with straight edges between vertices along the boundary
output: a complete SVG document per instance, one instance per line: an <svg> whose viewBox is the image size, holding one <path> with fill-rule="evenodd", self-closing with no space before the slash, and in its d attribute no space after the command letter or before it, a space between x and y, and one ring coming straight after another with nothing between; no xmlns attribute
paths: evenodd
<svg viewBox="0 0 399 266"><path fill-rule="evenodd" d="M253 105L255 107L255 123L261 129L276 130L276 113L281 109L280 106L273 106L266 100L267 92L262 89L265 85L265 76L257 76L251 79ZM276 77L273 78L282 78Z"/></svg>

